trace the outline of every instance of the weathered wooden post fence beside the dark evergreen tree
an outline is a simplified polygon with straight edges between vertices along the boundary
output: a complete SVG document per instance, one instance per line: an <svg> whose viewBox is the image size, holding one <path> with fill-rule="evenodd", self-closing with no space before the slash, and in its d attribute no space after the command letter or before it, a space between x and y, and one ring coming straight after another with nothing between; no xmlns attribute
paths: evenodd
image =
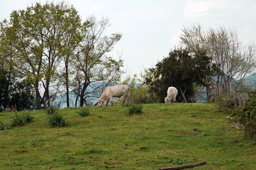
<svg viewBox="0 0 256 170"><path fill-rule="evenodd" d="M233 95L235 102L237 102L239 106L243 106L245 99L248 98L248 96L246 96L245 93L241 94L240 91L236 90L236 87L229 82L227 83L223 82L221 84L211 85L209 89L210 89L210 100L217 94Z"/></svg>

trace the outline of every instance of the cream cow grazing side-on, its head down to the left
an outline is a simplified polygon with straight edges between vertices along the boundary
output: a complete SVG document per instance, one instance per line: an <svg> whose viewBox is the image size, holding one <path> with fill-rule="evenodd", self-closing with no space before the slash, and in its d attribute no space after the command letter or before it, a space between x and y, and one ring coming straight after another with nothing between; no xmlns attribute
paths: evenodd
<svg viewBox="0 0 256 170"><path fill-rule="evenodd" d="M101 107L104 104L104 101L107 100L106 106L108 106L109 100L111 102L111 106L113 105L113 97L120 98L123 96L123 103L125 100L130 100L129 95L130 86L128 85L119 85L119 86L110 86L103 90L100 98L98 99L99 106Z"/></svg>

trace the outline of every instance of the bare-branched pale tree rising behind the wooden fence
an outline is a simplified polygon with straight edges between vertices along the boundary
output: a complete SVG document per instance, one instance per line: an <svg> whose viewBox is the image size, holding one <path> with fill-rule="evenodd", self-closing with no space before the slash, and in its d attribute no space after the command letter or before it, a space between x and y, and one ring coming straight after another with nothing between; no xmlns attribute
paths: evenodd
<svg viewBox="0 0 256 170"><path fill-rule="evenodd" d="M256 71L255 44L252 40L243 44L236 28L220 26L204 30L201 23L192 23L183 27L180 39L181 46L191 52L204 49L212 57L221 71L217 79L213 79L216 83L240 83Z"/></svg>

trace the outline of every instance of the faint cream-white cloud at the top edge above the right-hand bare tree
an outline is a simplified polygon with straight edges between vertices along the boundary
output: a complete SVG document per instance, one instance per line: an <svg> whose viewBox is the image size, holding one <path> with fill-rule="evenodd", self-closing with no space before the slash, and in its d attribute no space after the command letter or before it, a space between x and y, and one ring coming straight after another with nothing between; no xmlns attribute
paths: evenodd
<svg viewBox="0 0 256 170"><path fill-rule="evenodd" d="M209 9L220 8L221 6L222 2L219 0L189 0L183 9L183 12L186 19L193 19L197 17L202 17L204 15L209 15Z"/></svg>

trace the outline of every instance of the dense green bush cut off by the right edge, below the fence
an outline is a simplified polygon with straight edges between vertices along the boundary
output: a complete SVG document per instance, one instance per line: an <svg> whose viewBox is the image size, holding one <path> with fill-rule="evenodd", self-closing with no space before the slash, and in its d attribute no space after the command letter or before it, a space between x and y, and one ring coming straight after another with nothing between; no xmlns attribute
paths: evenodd
<svg viewBox="0 0 256 170"><path fill-rule="evenodd" d="M256 90L248 93L249 99L242 107L232 110L234 120L245 125L244 137L256 140Z"/></svg>

